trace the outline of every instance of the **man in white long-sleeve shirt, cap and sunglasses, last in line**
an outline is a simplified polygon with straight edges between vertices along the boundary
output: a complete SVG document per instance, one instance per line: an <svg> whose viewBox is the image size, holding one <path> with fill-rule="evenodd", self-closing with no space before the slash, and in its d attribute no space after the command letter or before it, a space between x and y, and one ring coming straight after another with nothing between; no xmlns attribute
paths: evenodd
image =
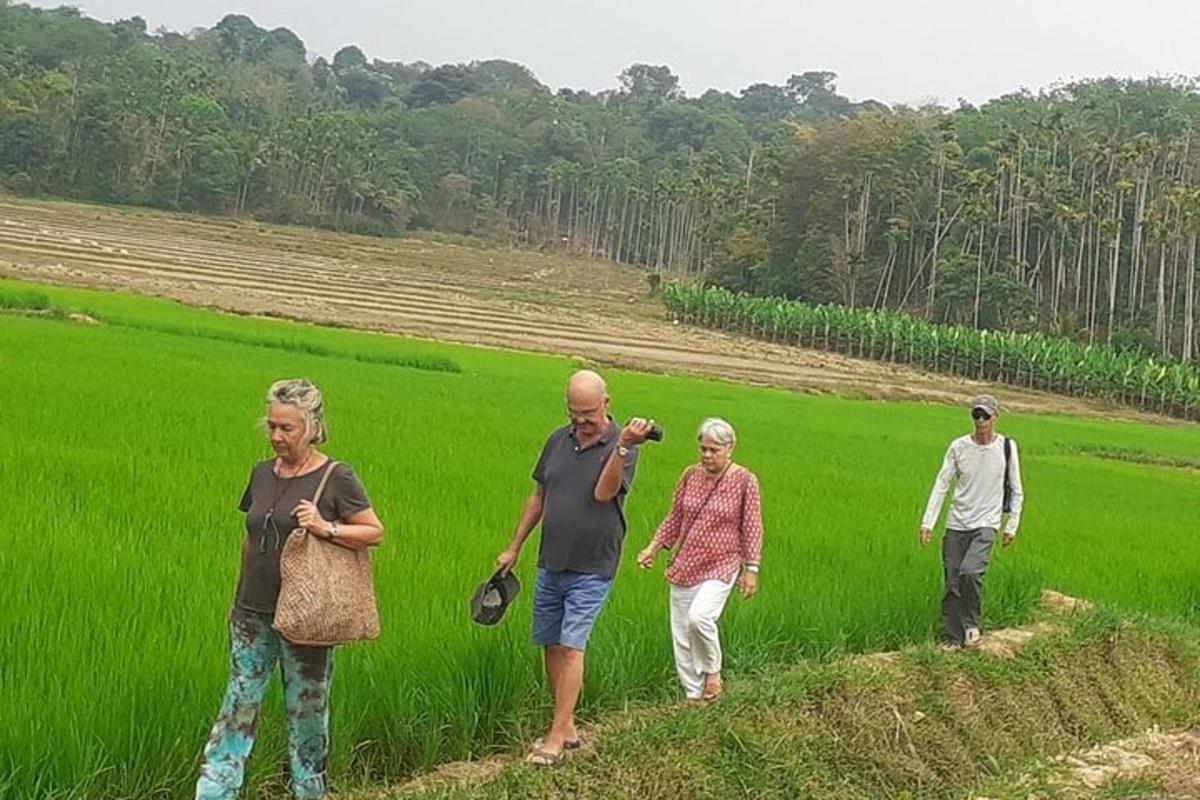
<svg viewBox="0 0 1200 800"><path fill-rule="evenodd" d="M950 491L950 483L956 482L942 541L946 572L942 639L949 646L979 644L983 579L996 531L1003 513L1008 512L1004 525L1004 547L1008 547L1016 537L1016 527L1021 521L1025 497L1016 443L996 433L998 415L1000 404L991 395L980 395L971 401L974 433L950 443L920 523L920 543L924 547L934 537L934 525L942 513L942 501Z"/></svg>

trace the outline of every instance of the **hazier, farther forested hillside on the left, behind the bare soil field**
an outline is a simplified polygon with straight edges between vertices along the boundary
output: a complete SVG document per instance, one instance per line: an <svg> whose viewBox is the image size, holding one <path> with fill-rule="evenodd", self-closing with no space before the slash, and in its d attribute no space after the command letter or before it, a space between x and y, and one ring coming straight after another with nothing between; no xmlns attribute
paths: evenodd
<svg viewBox="0 0 1200 800"><path fill-rule="evenodd" d="M856 108L832 73L686 98L667 67L552 91L508 61L310 62L230 14L150 34L0 0L0 181L53 193L389 234L504 237L698 270L774 191L790 122Z"/></svg>

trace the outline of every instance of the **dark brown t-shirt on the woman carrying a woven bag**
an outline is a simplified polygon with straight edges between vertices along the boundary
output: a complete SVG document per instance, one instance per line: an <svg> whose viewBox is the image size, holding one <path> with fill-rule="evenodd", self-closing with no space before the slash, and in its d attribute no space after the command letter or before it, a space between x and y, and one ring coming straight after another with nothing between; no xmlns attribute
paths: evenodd
<svg viewBox="0 0 1200 800"><path fill-rule="evenodd" d="M301 500L311 500L329 464L296 477L275 474L275 459L256 464L250 483L238 505L246 512L246 543L241 551L241 577L238 579L238 608L264 614L275 613L280 596L280 554L288 534L299 523L292 510ZM371 507L366 489L348 464L337 464L317 503L320 516L342 522Z"/></svg>

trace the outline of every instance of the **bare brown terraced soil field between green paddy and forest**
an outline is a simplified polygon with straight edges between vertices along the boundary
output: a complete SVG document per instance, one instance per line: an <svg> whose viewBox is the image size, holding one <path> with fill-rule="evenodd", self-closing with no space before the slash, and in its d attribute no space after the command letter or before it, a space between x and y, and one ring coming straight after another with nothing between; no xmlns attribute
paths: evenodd
<svg viewBox="0 0 1200 800"><path fill-rule="evenodd" d="M241 314L388 331L876 399L1135 411L684 327L646 271L530 251L0 197L0 273Z"/></svg>

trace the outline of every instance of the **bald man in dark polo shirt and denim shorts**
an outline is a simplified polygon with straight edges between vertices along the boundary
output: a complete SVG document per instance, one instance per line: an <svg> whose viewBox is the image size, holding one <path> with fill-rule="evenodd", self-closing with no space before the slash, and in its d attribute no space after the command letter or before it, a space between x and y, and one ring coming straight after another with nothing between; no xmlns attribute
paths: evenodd
<svg viewBox="0 0 1200 800"><path fill-rule="evenodd" d="M541 766L578 746L575 705L583 686L583 651L620 560L637 446L654 425L640 417L624 428L617 425L608 415L604 379L587 369L566 384L566 415L570 423L551 433L541 449L516 533L496 559L502 572L511 570L541 523L533 640L544 649L554 699L550 730L534 741L528 758Z"/></svg>

